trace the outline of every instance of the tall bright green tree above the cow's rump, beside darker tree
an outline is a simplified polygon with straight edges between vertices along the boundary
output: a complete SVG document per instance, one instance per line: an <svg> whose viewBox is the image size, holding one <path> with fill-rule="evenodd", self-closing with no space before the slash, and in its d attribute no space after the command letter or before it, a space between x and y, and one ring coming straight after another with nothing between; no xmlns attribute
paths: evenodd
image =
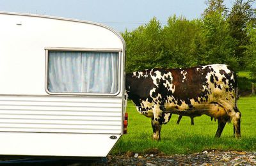
<svg viewBox="0 0 256 166"><path fill-rule="evenodd" d="M203 16L203 36L205 45L203 54L208 63L225 63L236 69L237 58L234 56L236 40L230 36L230 27L225 19L227 8L223 0L209 0Z"/></svg>

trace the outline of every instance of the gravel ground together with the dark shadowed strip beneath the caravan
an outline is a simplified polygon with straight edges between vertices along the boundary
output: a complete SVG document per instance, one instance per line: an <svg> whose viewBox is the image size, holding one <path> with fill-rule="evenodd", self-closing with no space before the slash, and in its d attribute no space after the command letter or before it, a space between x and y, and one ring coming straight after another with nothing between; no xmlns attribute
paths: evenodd
<svg viewBox="0 0 256 166"><path fill-rule="evenodd" d="M0 161L4 161L3 158ZM88 160L29 160L26 163L1 163L0 165L256 165L256 151L203 151L191 155L164 155L152 149L143 154L127 152L120 156L107 156L100 161Z"/></svg>

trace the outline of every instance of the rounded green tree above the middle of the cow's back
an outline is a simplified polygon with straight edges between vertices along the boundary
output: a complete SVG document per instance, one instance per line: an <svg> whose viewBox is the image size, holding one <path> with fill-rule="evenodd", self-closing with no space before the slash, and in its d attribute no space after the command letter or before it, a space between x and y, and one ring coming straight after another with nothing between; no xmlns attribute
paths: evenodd
<svg viewBox="0 0 256 166"><path fill-rule="evenodd" d="M169 17L163 28L164 54L158 59L159 66L177 68L198 64L201 24L200 20Z"/></svg>

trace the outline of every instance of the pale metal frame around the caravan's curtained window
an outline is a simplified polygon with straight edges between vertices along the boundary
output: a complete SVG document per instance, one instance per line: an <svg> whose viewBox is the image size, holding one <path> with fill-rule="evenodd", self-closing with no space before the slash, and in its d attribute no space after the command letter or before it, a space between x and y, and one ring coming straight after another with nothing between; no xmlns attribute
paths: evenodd
<svg viewBox="0 0 256 166"><path fill-rule="evenodd" d="M118 52L118 90L116 93L67 93L67 92L51 92L48 89L48 60L49 51L69 51L69 52ZM45 47L45 91L51 95L77 95L77 96L116 96L121 91L121 64L122 49L79 49L79 48L53 48Z"/></svg>

